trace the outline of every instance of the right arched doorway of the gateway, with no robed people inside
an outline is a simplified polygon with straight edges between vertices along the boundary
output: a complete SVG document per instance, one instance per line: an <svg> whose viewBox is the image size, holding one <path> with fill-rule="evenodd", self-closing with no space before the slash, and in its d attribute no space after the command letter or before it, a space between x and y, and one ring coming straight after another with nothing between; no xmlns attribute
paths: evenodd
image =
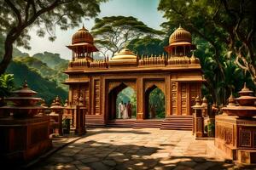
<svg viewBox="0 0 256 170"><path fill-rule="evenodd" d="M152 86L145 93L145 119L166 117L165 94L157 86Z"/></svg>

